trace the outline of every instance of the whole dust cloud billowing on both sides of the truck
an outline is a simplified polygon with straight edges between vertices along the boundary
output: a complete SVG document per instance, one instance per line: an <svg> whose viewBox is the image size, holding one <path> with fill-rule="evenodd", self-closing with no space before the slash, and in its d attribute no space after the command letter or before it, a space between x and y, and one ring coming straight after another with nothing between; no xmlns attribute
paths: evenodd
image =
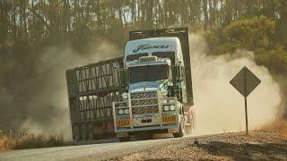
<svg viewBox="0 0 287 161"><path fill-rule="evenodd" d="M244 99L229 83L245 65L262 80L248 97L250 128L276 117L281 103L280 88L264 66L254 63L251 52L238 50L232 56L209 56L205 54L208 47L204 38L195 34L190 35L190 47L197 115L195 135L245 130ZM15 80L22 72L11 69L27 66L17 66L11 59L0 69L7 75L10 69L15 77L4 81L11 87L0 87L0 129L63 132L65 140L70 140L65 70L119 55L117 47L106 41L91 43L90 48L87 54L79 54L69 45L44 48L37 64L28 68L35 73L21 83Z"/></svg>

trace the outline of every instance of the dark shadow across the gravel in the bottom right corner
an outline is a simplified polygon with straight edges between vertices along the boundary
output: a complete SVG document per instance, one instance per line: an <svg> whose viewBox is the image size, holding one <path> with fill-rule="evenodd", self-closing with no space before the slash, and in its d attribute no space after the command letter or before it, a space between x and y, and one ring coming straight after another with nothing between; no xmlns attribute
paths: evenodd
<svg viewBox="0 0 287 161"><path fill-rule="evenodd" d="M195 145L192 145L195 146ZM287 159L286 143L226 143L221 141L212 141L204 144L198 144L208 153L215 156L230 157L234 160L285 160Z"/></svg>

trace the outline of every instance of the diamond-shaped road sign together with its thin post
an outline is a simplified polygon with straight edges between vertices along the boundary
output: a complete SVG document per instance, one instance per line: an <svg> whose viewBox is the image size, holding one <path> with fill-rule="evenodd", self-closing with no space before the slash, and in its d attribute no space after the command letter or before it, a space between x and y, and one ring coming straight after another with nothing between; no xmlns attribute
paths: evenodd
<svg viewBox="0 0 287 161"><path fill-rule="evenodd" d="M248 134L248 95L257 88L261 80L245 66L230 80L230 84L239 91L245 101L246 134Z"/></svg>

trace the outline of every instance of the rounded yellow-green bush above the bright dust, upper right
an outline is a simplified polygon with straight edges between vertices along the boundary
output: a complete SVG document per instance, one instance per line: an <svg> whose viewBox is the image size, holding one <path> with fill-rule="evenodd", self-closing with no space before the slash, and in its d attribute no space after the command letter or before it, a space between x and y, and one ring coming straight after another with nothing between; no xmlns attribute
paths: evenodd
<svg viewBox="0 0 287 161"><path fill-rule="evenodd" d="M255 50L274 47L275 21L265 17L255 17L234 21L222 30L223 42L236 48Z"/></svg>

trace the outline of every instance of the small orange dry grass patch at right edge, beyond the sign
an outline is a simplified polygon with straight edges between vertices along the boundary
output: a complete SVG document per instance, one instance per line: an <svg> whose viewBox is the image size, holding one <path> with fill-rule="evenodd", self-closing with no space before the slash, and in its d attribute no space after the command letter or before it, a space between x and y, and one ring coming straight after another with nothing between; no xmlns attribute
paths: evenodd
<svg viewBox="0 0 287 161"><path fill-rule="evenodd" d="M263 126L257 131L274 132L276 134L280 134L284 137L287 137L287 121L276 120L273 123L265 124L265 126Z"/></svg>

